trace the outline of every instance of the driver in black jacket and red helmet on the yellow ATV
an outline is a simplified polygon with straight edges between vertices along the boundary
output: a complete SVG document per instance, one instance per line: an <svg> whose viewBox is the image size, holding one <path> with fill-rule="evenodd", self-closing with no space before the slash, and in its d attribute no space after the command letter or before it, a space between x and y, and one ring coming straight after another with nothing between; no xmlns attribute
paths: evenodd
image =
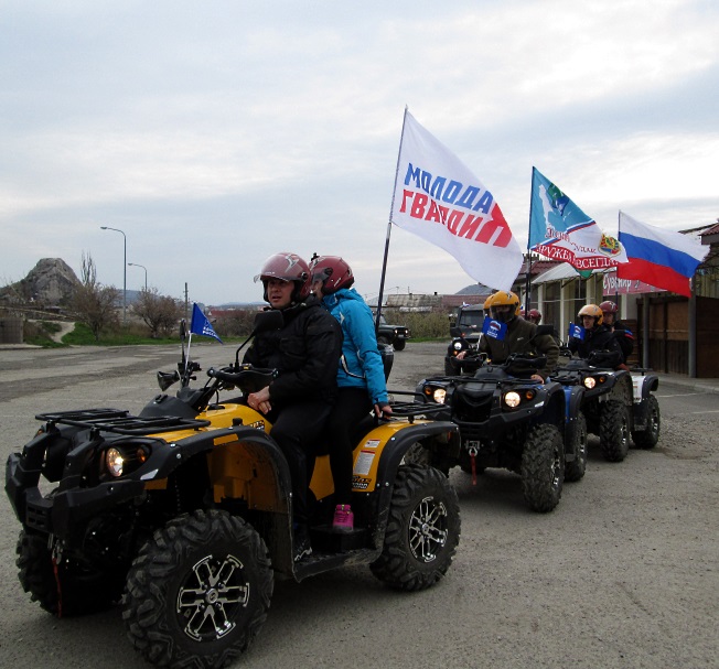
<svg viewBox="0 0 719 669"><path fill-rule="evenodd" d="M296 253L270 256L258 279L265 288L264 299L271 309L281 310L285 325L258 334L245 354L246 363L279 373L269 386L249 393L247 403L272 423L270 434L290 467L294 560L301 560L312 552L307 493L316 440L336 395L342 330L310 294L310 269Z"/></svg>

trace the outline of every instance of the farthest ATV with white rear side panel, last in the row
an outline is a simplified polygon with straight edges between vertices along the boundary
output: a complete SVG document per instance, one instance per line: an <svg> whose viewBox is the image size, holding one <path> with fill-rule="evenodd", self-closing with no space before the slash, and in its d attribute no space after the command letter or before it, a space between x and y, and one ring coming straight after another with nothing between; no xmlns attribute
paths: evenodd
<svg viewBox="0 0 719 669"><path fill-rule="evenodd" d="M653 393L659 379L650 369L615 369L613 352L593 352L589 358L570 358L552 376L567 387L582 387L581 412L587 430L599 436L609 462L626 457L630 441L653 449L659 439L659 403Z"/></svg>

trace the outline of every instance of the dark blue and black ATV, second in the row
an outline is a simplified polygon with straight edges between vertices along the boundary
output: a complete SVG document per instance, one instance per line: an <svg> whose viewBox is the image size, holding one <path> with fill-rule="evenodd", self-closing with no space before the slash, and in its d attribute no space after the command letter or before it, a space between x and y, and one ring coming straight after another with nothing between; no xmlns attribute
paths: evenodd
<svg viewBox="0 0 719 669"><path fill-rule="evenodd" d="M429 462L443 471L459 465L473 477L485 467L507 468L522 476L532 509L552 510L564 482L584 475L587 430L579 413L583 389L530 379L545 365L544 357L515 354L503 365L482 364L473 376L420 381L418 401L444 406L444 418L460 430L457 447L436 449Z"/></svg>

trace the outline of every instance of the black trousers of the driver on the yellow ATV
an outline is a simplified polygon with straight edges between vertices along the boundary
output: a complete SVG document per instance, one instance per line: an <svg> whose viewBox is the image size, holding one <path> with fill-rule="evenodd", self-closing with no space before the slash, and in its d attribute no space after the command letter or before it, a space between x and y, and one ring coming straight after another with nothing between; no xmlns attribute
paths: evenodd
<svg viewBox="0 0 719 669"><path fill-rule="evenodd" d="M314 470L318 440L332 406L326 401L297 402L272 410L270 436L277 442L292 477L292 515L294 522L309 521L307 492Z"/></svg>

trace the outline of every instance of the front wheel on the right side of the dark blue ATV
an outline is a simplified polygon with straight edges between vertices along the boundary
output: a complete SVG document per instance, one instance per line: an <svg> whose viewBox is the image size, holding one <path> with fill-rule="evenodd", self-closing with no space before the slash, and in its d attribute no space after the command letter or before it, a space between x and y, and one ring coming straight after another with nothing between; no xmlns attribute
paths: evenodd
<svg viewBox="0 0 719 669"><path fill-rule="evenodd" d="M522 453L522 489L529 507L546 514L561 497L565 481L565 442L555 425L537 425Z"/></svg>

